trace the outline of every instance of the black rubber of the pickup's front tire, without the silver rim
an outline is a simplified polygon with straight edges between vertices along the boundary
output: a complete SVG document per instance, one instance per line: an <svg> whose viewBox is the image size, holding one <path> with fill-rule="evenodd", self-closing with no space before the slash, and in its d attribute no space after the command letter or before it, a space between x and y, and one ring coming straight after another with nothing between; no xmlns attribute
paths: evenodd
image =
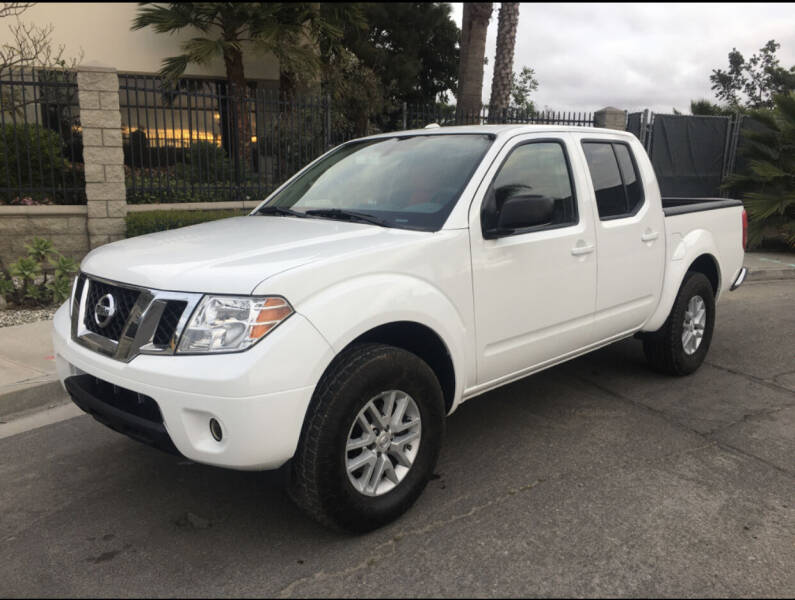
<svg viewBox="0 0 795 600"><path fill-rule="evenodd" d="M365 496L348 479L345 444L359 411L393 389L409 394L419 408L419 449L395 488ZM288 494L306 514L334 529L376 529L406 512L422 493L439 457L444 426L442 389L427 363L393 346L353 345L334 360L315 389L291 463Z"/></svg>

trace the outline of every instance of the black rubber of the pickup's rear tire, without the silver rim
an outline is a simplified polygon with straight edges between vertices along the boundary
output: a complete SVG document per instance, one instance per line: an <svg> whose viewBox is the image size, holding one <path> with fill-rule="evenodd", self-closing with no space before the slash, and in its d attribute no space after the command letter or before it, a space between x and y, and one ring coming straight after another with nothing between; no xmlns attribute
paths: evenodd
<svg viewBox="0 0 795 600"><path fill-rule="evenodd" d="M687 354L682 345L682 331L688 303L701 296L707 309L704 335L693 354ZM643 338L643 352L655 371L668 375L689 375L701 366L709 351L715 328L715 295L712 284L702 273L688 271L674 300L671 313L663 326Z"/></svg>

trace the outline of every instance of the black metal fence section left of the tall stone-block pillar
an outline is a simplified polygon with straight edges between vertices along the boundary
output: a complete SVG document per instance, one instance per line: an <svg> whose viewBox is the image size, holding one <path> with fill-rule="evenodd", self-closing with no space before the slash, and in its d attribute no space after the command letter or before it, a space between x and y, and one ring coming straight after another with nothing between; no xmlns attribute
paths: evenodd
<svg viewBox="0 0 795 600"><path fill-rule="evenodd" d="M75 74L18 69L0 80L0 204L85 204Z"/></svg>

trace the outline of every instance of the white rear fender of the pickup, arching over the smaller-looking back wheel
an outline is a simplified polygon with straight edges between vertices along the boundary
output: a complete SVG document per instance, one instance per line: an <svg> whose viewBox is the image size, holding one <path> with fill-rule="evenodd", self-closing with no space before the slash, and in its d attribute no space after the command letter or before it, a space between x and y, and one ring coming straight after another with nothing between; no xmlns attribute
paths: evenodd
<svg viewBox="0 0 795 600"><path fill-rule="evenodd" d="M657 305L657 310L641 328L642 331L657 331L663 326L671 312L687 270L703 254L709 255L715 260L718 269L718 279L720 280L720 253L718 245L715 243L715 238L709 231L706 229L694 229L685 236L680 233L671 234L668 240L668 260L665 264L665 277L663 279L660 302ZM720 289L721 286L719 284L718 292ZM715 299L717 300L717 294Z"/></svg>

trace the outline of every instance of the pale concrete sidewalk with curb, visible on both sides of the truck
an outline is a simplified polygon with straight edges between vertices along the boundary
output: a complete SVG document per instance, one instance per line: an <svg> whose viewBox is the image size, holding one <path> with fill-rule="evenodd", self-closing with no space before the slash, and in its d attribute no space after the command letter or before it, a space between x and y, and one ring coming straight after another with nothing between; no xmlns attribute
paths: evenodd
<svg viewBox="0 0 795 600"><path fill-rule="evenodd" d="M795 254L749 252L747 281L795 279ZM52 321L0 327L0 421L68 400L55 375Z"/></svg>

